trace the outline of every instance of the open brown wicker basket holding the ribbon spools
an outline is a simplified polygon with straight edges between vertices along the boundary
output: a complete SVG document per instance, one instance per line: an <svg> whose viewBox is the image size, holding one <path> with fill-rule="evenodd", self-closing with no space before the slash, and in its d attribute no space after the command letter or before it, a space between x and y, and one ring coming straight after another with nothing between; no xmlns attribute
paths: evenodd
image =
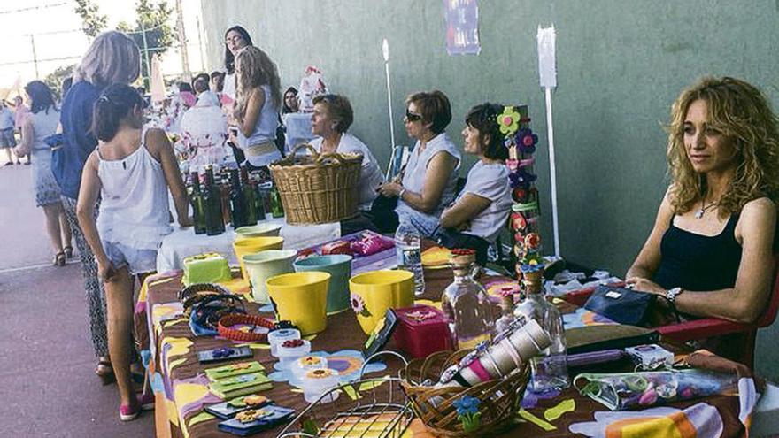
<svg viewBox="0 0 779 438"><path fill-rule="evenodd" d="M505 379L489 380L470 388L434 388L420 382L437 381L441 373L459 362L470 350L438 351L424 359L413 360L401 370L402 388L417 417L438 436L483 436L508 426L520 409L522 395L530 377L530 367L525 364ZM481 428L465 432L458 419L454 402L462 396L481 401Z"/></svg>

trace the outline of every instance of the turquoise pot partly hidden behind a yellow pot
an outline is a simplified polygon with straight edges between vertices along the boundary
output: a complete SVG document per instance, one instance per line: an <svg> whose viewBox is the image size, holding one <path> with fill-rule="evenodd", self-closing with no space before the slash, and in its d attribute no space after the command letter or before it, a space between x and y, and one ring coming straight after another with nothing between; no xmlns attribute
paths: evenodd
<svg viewBox="0 0 779 438"><path fill-rule="evenodd" d="M334 254L331 256L305 257L292 264L295 272L320 271L329 273L328 315L345 311L349 304L349 279L351 277L351 256Z"/></svg>

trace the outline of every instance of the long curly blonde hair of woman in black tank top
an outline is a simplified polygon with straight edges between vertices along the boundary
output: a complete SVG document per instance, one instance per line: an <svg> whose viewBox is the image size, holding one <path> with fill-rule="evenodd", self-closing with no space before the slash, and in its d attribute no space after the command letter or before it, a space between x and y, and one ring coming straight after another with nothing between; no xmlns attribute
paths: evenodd
<svg viewBox="0 0 779 438"><path fill-rule="evenodd" d="M667 127L667 160L671 205L677 214L690 211L706 194L706 175L696 173L684 146L684 119L690 104L706 102L708 125L736 149L736 174L719 201L721 217L741 212L762 196L779 196L779 133L774 111L758 88L734 78L706 77L685 89L671 108Z"/></svg>

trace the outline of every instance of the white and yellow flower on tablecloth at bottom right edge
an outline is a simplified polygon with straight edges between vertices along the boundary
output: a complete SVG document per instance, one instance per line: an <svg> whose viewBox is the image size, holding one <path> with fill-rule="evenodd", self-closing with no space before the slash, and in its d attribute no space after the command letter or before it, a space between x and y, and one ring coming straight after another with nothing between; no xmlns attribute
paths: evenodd
<svg viewBox="0 0 779 438"><path fill-rule="evenodd" d="M720 412L707 403L697 403L683 411L672 407L644 411L601 411L595 412L594 418L595 421L574 423L568 426L568 430L591 438L714 438L721 436L724 430Z"/></svg>

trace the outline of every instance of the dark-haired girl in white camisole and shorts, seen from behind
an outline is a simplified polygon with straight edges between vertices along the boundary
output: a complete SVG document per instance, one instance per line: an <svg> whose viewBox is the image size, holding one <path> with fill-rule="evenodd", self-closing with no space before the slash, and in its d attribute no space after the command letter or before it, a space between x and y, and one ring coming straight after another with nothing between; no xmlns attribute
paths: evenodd
<svg viewBox="0 0 779 438"><path fill-rule="evenodd" d="M120 390L120 419L138 417L130 362L133 356L133 277L155 270L169 225L167 188L181 227L189 227L187 192L165 132L143 127L143 99L125 84L105 88L95 103L92 132L98 145L81 177L77 215L95 253L108 304L108 350ZM97 196L102 198L95 222Z"/></svg>

